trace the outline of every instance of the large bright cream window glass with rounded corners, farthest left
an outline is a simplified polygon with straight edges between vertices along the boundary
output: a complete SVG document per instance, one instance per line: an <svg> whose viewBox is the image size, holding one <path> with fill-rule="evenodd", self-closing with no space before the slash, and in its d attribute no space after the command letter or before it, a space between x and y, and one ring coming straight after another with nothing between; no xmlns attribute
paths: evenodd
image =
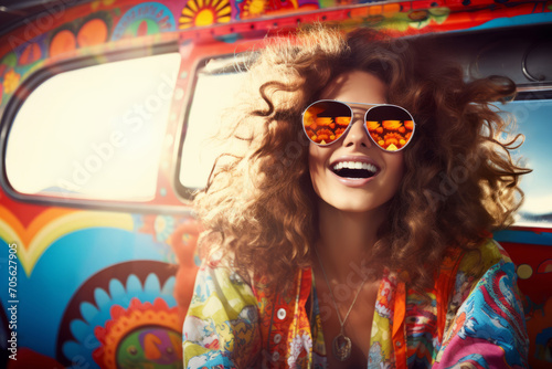
<svg viewBox="0 0 552 369"><path fill-rule="evenodd" d="M6 170L26 194L153 198L180 55L73 70L38 86L15 115Z"/></svg>

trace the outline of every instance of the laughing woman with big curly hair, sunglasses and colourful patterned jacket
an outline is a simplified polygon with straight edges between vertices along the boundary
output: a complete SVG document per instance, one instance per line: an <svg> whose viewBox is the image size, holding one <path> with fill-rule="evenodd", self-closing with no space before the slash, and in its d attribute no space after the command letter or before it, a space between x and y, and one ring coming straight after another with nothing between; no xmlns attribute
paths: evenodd
<svg viewBox="0 0 552 369"><path fill-rule="evenodd" d="M465 82L435 50L321 27L268 42L195 199L187 367L527 367L490 239L530 171L490 106L514 84Z"/></svg>

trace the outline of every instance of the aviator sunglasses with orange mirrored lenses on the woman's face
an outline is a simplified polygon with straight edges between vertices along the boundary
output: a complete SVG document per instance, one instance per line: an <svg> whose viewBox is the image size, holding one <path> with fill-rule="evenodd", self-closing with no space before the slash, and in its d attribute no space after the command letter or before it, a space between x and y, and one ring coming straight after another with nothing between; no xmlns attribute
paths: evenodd
<svg viewBox="0 0 552 369"><path fill-rule="evenodd" d="M371 106L364 114L364 129L372 141L385 151L399 151L414 135L414 119L404 108L391 104L361 104L320 99L302 112L302 129L318 146L328 146L351 127L354 113L349 105Z"/></svg>

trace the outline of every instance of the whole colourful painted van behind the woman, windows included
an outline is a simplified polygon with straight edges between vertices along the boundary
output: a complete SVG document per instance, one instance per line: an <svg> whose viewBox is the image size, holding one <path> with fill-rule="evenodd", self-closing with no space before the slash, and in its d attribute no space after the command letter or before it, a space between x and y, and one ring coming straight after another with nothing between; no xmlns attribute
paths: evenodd
<svg viewBox="0 0 552 369"><path fill-rule="evenodd" d="M0 366L182 366L209 137L243 52L315 21L436 34L467 77L519 84L501 108L534 170L495 238L517 264L531 366L552 365L552 1L1 0Z"/></svg>

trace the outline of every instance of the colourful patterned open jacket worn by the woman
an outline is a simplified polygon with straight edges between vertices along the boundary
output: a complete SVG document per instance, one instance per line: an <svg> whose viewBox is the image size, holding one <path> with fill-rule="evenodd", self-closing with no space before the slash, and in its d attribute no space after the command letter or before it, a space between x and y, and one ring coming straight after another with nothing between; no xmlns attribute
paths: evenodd
<svg viewBox="0 0 552 369"><path fill-rule="evenodd" d="M514 265L492 240L480 255L449 252L431 304L385 272L368 368L527 368L516 280ZM326 368L311 270L298 271L295 282L293 292L269 296L227 267L204 264L183 326L184 367Z"/></svg>

